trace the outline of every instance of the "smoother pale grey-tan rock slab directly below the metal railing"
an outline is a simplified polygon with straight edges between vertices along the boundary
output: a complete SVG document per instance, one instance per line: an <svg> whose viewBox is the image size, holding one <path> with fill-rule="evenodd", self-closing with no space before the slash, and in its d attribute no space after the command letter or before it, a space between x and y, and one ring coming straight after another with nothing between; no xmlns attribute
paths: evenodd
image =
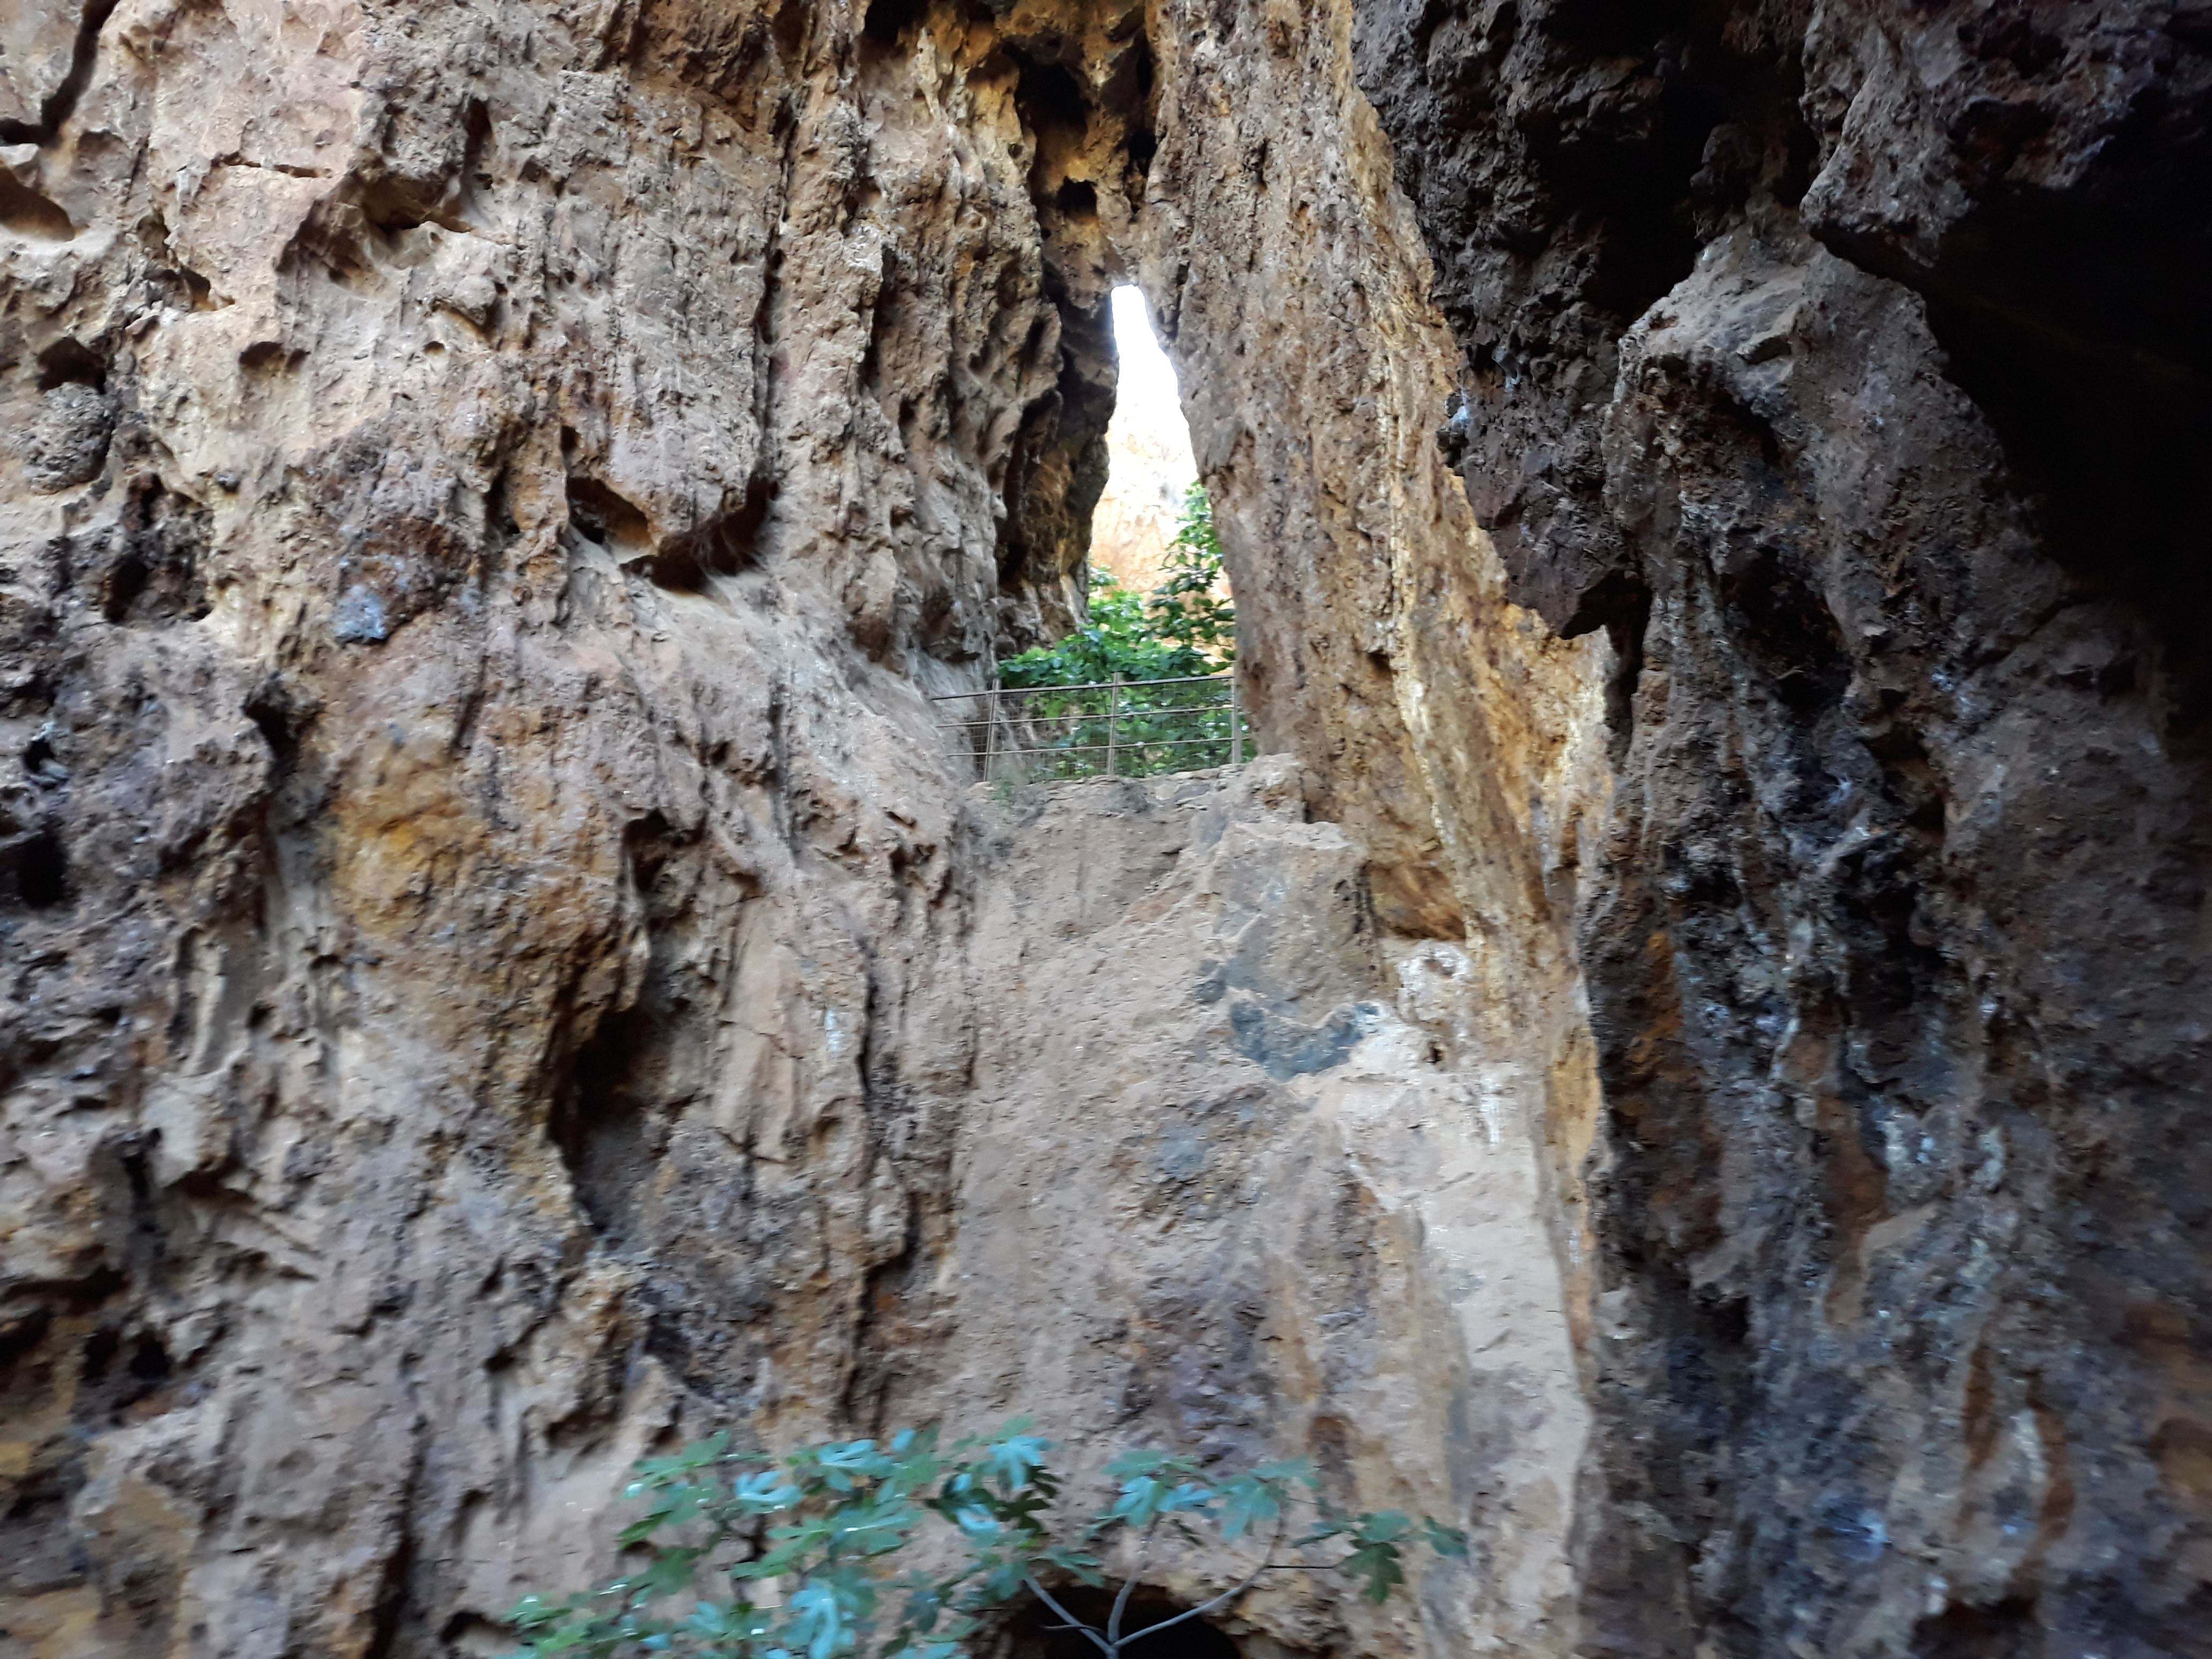
<svg viewBox="0 0 2212 1659"><path fill-rule="evenodd" d="M942 1340L898 1340L891 1416L1053 1400L1093 1467L1141 1425L1303 1447L1369 1502L1464 1515L1473 1559L1422 1577L1425 1630L1285 1579L1239 1635L1555 1646L1575 1354L1467 951L1376 927L1365 847L1279 757L984 796L975 836L956 1230L909 1301ZM1164 1586L1219 1588L1197 1566Z"/></svg>

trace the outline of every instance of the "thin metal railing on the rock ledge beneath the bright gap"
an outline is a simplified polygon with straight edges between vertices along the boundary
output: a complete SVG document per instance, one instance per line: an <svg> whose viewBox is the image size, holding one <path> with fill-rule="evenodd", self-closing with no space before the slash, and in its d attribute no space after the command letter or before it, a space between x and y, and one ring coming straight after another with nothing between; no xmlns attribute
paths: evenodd
<svg viewBox="0 0 2212 1659"><path fill-rule="evenodd" d="M1250 759L1237 675L1015 686L933 697L989 783L1146 779Z"/></svg>

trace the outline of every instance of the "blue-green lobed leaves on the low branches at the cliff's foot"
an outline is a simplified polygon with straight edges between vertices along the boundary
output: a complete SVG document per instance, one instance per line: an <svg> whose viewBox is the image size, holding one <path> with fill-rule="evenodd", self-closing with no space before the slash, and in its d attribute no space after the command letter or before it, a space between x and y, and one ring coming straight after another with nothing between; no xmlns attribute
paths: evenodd
<svg viewBox="0 0 2212 1659"><path fill-rule="evenodd" d="M1068 1526L1055 1520L1062 1482L1048 1453L1024 1422L947 1449L933 1429L909 1429L885 1444L830 1442L781 1460L714 1436L637 1464L626 1495L646 1500L646 1513L622 1533L641 1557L635 1573L566 1601L524 1597L509 1621L522 1655L962 1659L971 1637L1031 1595L1104 1659L1121 1659L1159 1630L1228 1610L1270 1571L1347 1573L1369 1601L1387 1601L1416 1540L1467 1555L1467 1535L1451 1526L1329 1509L1303 1460L1223 1475L1130 1451L1106 1469L1110 1502ZM1294 1511L1310 1520L1294 1522ZM898 1571L929 1526L953 1542L949 1564ZM1161 1533L1254 1559L1210 1601L1124 1628ZM1135 1571L1106 1619L1086 1624L1053 1586L1104 1586L1099 1551L1115 1542L1135 1548Z"/></svg>

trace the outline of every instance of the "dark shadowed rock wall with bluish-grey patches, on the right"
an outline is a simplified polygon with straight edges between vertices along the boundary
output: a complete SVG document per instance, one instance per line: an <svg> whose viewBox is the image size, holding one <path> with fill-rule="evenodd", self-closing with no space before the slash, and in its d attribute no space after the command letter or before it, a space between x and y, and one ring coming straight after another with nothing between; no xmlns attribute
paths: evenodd
<svg viewBox="0 0 2212 1659"><path fill-rule="evenodd" d="M2212 38L1358 13L1438 440L1621 661L1584 1650L2199 1650Z"/></svg>

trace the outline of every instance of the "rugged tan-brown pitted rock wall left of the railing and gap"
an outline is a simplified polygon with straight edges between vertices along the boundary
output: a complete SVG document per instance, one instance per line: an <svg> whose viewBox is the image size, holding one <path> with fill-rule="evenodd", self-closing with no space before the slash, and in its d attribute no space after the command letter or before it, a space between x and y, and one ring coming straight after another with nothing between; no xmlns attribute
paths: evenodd
<svg viewBox="0 0 2212 1659"><path fill-rule="evenodd" d="M495 1639L681 1411L865 1398L973 1033L918 692L1077 602L1102 290L1013 49L75 22L7 58L7 1628Z"/></svg>

